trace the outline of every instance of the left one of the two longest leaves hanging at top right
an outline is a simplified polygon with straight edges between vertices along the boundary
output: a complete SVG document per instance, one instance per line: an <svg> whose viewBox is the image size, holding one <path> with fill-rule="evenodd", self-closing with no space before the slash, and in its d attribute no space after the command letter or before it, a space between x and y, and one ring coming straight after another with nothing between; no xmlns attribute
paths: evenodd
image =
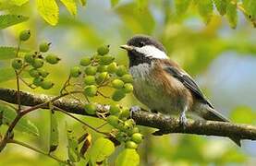
<svg viewBox="0 0 256 166"><path fill-rule="evenodd" d="M213 2L212 0L198 0L197 1L199 14L203 21L208 24L213 16Z"/></svg>

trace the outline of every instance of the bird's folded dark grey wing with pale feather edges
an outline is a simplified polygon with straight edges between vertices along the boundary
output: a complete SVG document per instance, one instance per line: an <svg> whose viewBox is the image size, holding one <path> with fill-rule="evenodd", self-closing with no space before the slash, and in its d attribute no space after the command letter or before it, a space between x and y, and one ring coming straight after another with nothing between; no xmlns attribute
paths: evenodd
<svg viewBox="0 0 256 166"><path fill-rule="evenodd" d="M165 66L164 69L168 74L170 74L172 77L176 77L177 80L179 80L185 87L190 89L196 98L213 108L213 105L205 99L199 86L191 77L189 77L187 73L183 73L176 66Z"/></svg>

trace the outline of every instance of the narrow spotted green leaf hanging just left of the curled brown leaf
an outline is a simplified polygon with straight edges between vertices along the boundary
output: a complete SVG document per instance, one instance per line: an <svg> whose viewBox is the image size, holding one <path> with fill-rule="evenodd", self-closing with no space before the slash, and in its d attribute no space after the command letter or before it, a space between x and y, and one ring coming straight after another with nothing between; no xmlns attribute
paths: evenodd
<svg viewBox="0 0 256 166"><path fill-rule="evenodd" d="M66 124L67 127L67 124ZM76 136L74 136L73 131L67 129L67 143L68 143L68 159L72 162L77 162L80 160L79 156L79 141Z"/></svg>

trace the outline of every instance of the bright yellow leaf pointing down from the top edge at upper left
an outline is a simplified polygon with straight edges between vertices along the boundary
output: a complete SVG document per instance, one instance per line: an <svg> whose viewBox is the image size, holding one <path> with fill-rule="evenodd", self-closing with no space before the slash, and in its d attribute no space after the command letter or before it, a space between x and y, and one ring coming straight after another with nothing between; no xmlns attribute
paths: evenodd
<svg viewBox="0 0 256 166"><path fill-rule="evenodd" d="M50 25L58 22L59 10L55 0L37 0L37 8L42 18Z"/></svg>

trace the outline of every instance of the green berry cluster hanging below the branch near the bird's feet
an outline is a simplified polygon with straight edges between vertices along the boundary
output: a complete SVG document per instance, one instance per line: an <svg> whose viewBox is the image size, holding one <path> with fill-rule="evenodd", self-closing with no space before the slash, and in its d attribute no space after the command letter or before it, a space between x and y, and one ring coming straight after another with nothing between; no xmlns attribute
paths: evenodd
<svg viewBox="0 0 256 166"><path fill-rule="evenodd" d="M124 142L126 148L138 148L143 136L133 119L129 119L130 112L128 108L111 105L109 113L107 122L117 129L116 139L119 142Z"/></svg>

